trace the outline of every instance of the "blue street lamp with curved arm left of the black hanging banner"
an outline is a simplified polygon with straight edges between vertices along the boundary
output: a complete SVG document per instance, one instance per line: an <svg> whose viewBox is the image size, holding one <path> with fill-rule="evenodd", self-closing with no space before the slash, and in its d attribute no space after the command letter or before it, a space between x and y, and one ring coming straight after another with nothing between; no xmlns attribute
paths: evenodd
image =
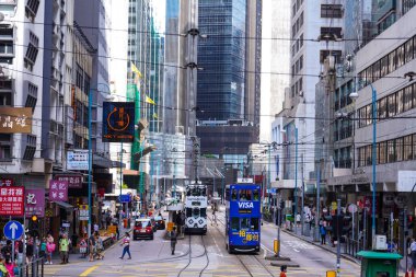
<svg viewBox="0 0 416 277"><path fill-rule="evenodd" d="M105 83L97 83L96 84L96 91L99 92L99 85L104 85L108 89L107 91L107 94L105 96L105 100L107 101L111 101L113 100L113 95L111 95L111 89L108 86L108 84L105 84ZM91 220L91 196L92 196L92 193L91 193L91 183L92 183L92 94L93 94L93 89L90 89L90 93L89 93L89 103L88 103L88 128L89 128L89 140L88 140L88 209L89 209L89 218L88 218L88 236L90 238L91 236L91 224L92 224L92 220Z"/></svg>

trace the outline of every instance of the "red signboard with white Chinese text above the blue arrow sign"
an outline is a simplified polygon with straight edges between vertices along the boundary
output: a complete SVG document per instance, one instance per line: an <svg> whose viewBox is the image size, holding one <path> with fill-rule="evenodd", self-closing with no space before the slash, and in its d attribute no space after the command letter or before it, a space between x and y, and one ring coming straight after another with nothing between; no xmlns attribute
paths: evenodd
<svg viewBox="0 0 416 277"><path fill-rule="evenodd" d="M24 187L0 188L0 216L23 216Z"/></svg>

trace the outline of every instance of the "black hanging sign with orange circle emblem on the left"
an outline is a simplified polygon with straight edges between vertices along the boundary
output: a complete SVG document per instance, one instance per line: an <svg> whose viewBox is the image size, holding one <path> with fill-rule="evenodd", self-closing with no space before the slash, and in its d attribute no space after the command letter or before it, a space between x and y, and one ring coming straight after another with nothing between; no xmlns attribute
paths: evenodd
<svg viewBox="0 0 416 277"><path fill-rule="evenodd" d="M132 142L135 102L103 103L103 142Z"/></svg>

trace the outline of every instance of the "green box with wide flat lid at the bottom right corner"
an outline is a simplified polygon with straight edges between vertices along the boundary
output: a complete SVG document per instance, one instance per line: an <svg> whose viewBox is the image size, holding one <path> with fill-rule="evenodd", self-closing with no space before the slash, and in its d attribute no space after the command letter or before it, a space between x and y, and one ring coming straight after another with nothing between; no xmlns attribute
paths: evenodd
<svg viewBox="0 0 416 277"><path fill-rule="evenodd" d="M397 277L398 261L402 256L397 253L360 251L357 253L362 258L360 277Z"/></svg>

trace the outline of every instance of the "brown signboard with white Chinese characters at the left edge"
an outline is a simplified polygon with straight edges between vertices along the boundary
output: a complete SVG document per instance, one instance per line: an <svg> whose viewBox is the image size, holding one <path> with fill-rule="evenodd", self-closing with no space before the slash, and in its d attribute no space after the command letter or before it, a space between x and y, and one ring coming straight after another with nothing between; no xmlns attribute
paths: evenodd
<svg viewBox="0 0 416 277"><path fill-rule="evenodd" d="M0 134L31 134L31 107L0 107Z"/></svg>

